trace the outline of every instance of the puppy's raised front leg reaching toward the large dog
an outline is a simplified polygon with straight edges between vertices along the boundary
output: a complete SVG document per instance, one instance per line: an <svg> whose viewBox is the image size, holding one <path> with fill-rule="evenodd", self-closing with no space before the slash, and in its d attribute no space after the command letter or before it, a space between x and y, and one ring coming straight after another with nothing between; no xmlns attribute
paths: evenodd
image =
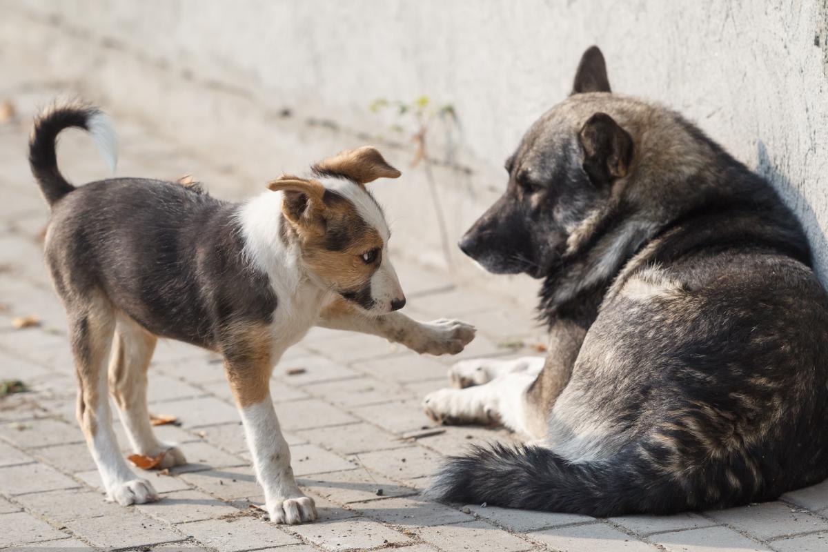
<svg viewBox="0 0 828 552"><path fill-rule="evenodd" d="M475 332L474 326L460 320L417 322L399 312L369 317L341 299L322 310L317 325L378 335L392 343L402 343L416 353L434 355L460 353L474 339Z"/></svg>

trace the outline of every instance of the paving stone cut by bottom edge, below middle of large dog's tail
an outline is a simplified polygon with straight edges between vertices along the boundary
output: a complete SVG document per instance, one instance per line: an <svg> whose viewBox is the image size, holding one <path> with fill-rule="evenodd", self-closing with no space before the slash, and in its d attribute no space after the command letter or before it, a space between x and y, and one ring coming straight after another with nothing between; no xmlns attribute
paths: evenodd
<svg viewBox="0 0 828 552"><path fill-rule="evenodd" d="M560 552L657 552L657 548L605 523L567 526L529 533L530 538Z"/></svg>

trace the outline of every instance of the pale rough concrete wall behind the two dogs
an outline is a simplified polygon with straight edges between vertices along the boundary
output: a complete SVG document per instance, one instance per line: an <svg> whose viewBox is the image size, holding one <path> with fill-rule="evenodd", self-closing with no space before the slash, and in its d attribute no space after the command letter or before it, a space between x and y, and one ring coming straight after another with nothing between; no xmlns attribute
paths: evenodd
<svg viewBox="0 0 828 552"><path fill-rule="evenodd" d="M407 168L412 118L369 104L425 94L454 108L460 129L438 120L429 135L431 156L450 161L435 178L454 242L503 189L503 159L566 96L595 43L615 90L681 110L767 175L828 276L826 0L42 0L2 11L2 48L237 167L239 194L344 146L389 142L405 182L376 190L395 241L435 264L445 259L424 171ZM471 277L461 257L452 263L458 279Z"/></svg>

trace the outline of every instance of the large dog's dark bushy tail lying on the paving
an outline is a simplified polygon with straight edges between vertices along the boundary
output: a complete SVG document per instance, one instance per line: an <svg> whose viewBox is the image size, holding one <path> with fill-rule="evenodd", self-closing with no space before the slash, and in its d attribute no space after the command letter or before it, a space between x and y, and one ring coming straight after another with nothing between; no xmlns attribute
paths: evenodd
<svg viewBox="0 0 828 552"><path fill-rule="evenodd" d="M696 502L699 481L693 479L665 477L634 454L570 463L534 445L493 444L449 458L425 495L440 502L596 517L668 514L704 506L703 499Z"/></svg>

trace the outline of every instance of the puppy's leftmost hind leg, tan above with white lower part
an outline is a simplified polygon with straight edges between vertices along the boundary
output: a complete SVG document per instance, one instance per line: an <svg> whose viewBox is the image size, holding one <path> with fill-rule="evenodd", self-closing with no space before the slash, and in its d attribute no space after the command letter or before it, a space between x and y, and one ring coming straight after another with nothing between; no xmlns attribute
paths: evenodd
<svg viewBox="0 0 828 552"><path fill-rule="evenodd" d="M78 421L109 500L124 506L157 500L152 485L128 467L112 429L107 361L115 329L114 309L103 292L65 300L78 375Z"/></svg>

